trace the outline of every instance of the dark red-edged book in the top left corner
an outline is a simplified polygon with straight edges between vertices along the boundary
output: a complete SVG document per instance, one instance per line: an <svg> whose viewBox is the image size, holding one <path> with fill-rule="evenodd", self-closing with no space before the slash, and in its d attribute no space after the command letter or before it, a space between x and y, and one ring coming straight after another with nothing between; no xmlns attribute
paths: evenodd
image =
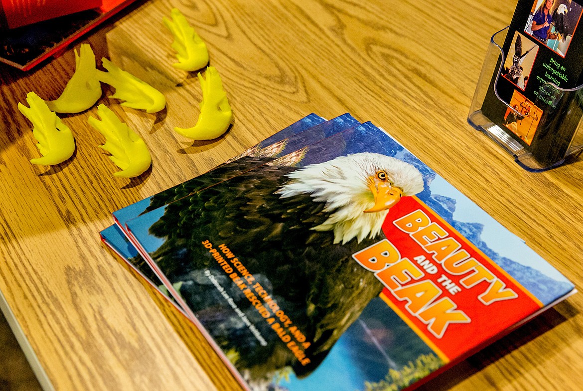
<svg viewBox="0 0 583 391"><path fill-rule="evenodd" d="M62 11L64 1L23 4L0 2L0 62L27 71L52 55L64 51L73 41L99 26L135 0L69 1L75 13ZM38 12L38 9L41 12ZM57 15L62 15L58 16ZM50 19L49 19L50 18ZM48 20L43 20L48 19ZM40 20L40 21L38 21ZM30 25L12 28L22 23Z"/></svg>

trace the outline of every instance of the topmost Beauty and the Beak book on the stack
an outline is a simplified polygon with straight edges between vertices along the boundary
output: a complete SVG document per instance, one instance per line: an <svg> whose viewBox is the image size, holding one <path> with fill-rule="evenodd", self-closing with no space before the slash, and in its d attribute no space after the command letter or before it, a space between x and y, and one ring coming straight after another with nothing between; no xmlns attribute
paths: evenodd
<svg viewBox="0 0 583 391"><path fill-rule="evenodd" d="M574 292L371 123L265 160L127 222L247 389L414 387Z"/></svg>

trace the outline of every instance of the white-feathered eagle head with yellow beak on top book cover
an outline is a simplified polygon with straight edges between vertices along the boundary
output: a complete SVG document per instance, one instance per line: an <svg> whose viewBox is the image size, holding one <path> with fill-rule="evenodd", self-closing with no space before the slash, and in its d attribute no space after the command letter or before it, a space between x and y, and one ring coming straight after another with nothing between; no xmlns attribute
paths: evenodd
<svg viewBox="0 0 583 391"><path fill-rule="evenodd" d="M422 174L402 160L380 153L339 156L287 174L289 181L277 191L280 197L309 194L325 203L326 220L312 227L333 231L334 243L375 238L389 208L401 197L423 190Z"/></svg>

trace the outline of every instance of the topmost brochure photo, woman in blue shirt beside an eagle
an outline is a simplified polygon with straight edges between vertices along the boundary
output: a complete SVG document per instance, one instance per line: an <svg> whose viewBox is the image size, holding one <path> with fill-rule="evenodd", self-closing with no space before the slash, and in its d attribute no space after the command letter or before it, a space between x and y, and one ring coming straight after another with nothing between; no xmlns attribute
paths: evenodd
<svg viewBox="0 0 583 391"><path fill-rule="evenodd" d="M565 57L582 11L573 0L535 0L524 31Z"/></svg>

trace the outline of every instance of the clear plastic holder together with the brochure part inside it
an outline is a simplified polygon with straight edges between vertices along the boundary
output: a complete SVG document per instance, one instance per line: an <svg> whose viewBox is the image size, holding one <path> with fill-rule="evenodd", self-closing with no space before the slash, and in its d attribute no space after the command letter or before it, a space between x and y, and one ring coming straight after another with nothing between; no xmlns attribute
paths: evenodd
<svg viewBox="0 0 583 391"><path fill-rule="evenodd" d="M576 76L568 74L560 39L543 43L511 27L491 37L468 122L524 169L545 171L583 152L581 64L574 65ZM573 79L577 86L564 88Z"/></svg>

